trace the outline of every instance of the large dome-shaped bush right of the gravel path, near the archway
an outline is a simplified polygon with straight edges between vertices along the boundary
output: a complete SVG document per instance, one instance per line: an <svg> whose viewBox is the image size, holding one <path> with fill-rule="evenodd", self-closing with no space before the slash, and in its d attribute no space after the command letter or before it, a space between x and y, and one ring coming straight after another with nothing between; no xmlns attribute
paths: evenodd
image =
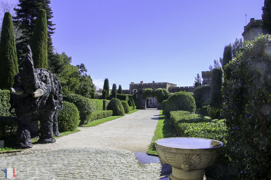
<svg viewBox="0 0 271 180"><path fill-rule="evenodd" d="M196 103L191 93L177 92L173 93L167 99L164 113L166 116L170 116L170 111L189 111L194 113L196 111Z"/></svg>

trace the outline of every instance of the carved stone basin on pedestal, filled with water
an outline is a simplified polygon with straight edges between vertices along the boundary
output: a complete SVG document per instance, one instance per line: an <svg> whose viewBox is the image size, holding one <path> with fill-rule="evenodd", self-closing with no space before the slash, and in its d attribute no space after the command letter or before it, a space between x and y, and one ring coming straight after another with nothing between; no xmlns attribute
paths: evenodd
<svg viewBox="0 0 271 180"><path fill-rule="evenodd" d="M177 137L155 141L163 164L172 166L169 180L203 180L204 169L219 156L223 143L213 139Z"/></svg>

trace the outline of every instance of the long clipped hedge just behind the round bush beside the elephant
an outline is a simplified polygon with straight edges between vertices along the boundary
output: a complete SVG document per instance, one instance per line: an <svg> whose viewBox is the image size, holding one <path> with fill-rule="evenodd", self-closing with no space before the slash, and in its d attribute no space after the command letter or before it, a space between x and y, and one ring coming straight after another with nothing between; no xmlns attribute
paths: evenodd
<svg viewBox="0 0 271 180"><path fill-rule="evenodd" d="M77 94L68 94L63 96L63 101L74 103L77 107L80 115L80 125L91 120L90 114L92 112L103 110L103 101L101 99L89 99Z"/></svg>

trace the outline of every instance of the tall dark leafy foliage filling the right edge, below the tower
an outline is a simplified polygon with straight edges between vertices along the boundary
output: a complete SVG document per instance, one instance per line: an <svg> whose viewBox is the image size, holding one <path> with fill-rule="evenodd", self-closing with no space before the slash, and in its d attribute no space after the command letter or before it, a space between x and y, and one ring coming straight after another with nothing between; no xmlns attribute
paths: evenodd
<svg viewBox="0 0 271 180"><path fill-rule="evenodd" d="M230 179L271 179L271 36L246 42L226 67Z"/></svg>

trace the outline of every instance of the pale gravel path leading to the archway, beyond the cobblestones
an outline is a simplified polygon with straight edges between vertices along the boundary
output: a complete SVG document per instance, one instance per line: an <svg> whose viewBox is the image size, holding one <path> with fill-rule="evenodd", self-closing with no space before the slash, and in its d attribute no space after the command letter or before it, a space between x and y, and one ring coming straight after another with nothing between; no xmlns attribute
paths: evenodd
<svg viewBox="0 0 271 180"><path fill-rule="evenodd" d="M113 148L146 152L158 122L159 110L143 109L103 124L79 128L81 131L52 144L36 144L25 150L56 150L66 148Z"/></svg>

